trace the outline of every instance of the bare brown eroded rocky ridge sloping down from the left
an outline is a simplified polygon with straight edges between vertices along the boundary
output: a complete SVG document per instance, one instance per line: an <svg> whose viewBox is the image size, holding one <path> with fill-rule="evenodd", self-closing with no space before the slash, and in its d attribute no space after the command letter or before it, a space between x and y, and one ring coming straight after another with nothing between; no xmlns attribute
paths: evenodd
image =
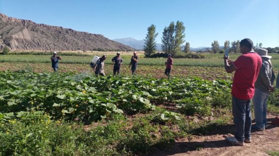
<svg viewBox="0 0 279 156"><path fill-rule="evenodd" d="M37 24L0 13L0 49L17 51L133 51L100 34Z"/></svg>

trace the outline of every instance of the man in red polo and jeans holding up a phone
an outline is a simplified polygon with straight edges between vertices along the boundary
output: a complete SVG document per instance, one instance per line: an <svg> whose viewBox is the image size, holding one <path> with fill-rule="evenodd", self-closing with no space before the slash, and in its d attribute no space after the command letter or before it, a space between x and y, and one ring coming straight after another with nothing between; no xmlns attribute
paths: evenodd
<svg viewBox="0 0 279 156"><path fill-rule="evenodd" d="M226 141L233 145L244 146L251 143L251 99L255 92L255 82L262 65L262 58L253 51L253 42L243 39L240 42L240 55L236 61L229 61L224 55L227 73L235 71L232 85L232 108L235 124L235 136L227 137Z"/></svg>

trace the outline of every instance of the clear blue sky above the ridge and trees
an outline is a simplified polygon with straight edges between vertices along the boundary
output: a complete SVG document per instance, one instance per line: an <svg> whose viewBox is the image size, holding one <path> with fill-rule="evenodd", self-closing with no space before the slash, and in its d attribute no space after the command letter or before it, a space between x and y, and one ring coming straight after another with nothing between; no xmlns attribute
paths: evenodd
<svg viewBox="0 0 279 156"><path fill-rule="evenodd" d="M244 38L279 47L279 0L0 0L0 13L109 39L143 40L154 24L157 43L179 20L192 48Z"/></svg>

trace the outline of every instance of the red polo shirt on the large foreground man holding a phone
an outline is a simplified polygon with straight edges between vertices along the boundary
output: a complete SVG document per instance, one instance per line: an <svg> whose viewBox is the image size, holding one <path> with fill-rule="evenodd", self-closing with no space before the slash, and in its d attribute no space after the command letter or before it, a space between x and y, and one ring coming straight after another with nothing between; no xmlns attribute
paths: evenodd
<svg viewBox="0 0 279 156"><path fill-rule="evenodd" d="M232 86L232 95L238 99L252 99L255 82L262 66L262 58L256 52L242 54L233 62L237 68Z"/></svg>

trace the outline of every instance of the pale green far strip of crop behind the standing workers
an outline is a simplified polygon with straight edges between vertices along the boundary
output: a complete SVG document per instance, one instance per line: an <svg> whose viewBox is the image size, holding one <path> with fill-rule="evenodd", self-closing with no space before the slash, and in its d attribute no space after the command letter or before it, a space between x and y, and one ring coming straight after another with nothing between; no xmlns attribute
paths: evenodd
<svg viewBox="0 0 279 156"><path fill-rule="evenodd" d="M275 68L279 68L279 55L272 54L272 62ZM129 65L132 55L123 55L123 61L125 65ZM203 67L223 67L223 55L222 54L206 54L206 58L194 59L194 58L179 58L174 59L174 66L203 66ZM235 60L239 54L230 55L232 60ZM106 64L113 64L111 61L114 55L108 55ZM89 64L93 55L89 56L62 56L60 63L75 63L75 64ZM165 58L144 58L143 55L139 55L139 65L151 65L151 66L164 66ZM0 55L0 62L24 62L24 63L49 63L50 55Z"/></svg>

